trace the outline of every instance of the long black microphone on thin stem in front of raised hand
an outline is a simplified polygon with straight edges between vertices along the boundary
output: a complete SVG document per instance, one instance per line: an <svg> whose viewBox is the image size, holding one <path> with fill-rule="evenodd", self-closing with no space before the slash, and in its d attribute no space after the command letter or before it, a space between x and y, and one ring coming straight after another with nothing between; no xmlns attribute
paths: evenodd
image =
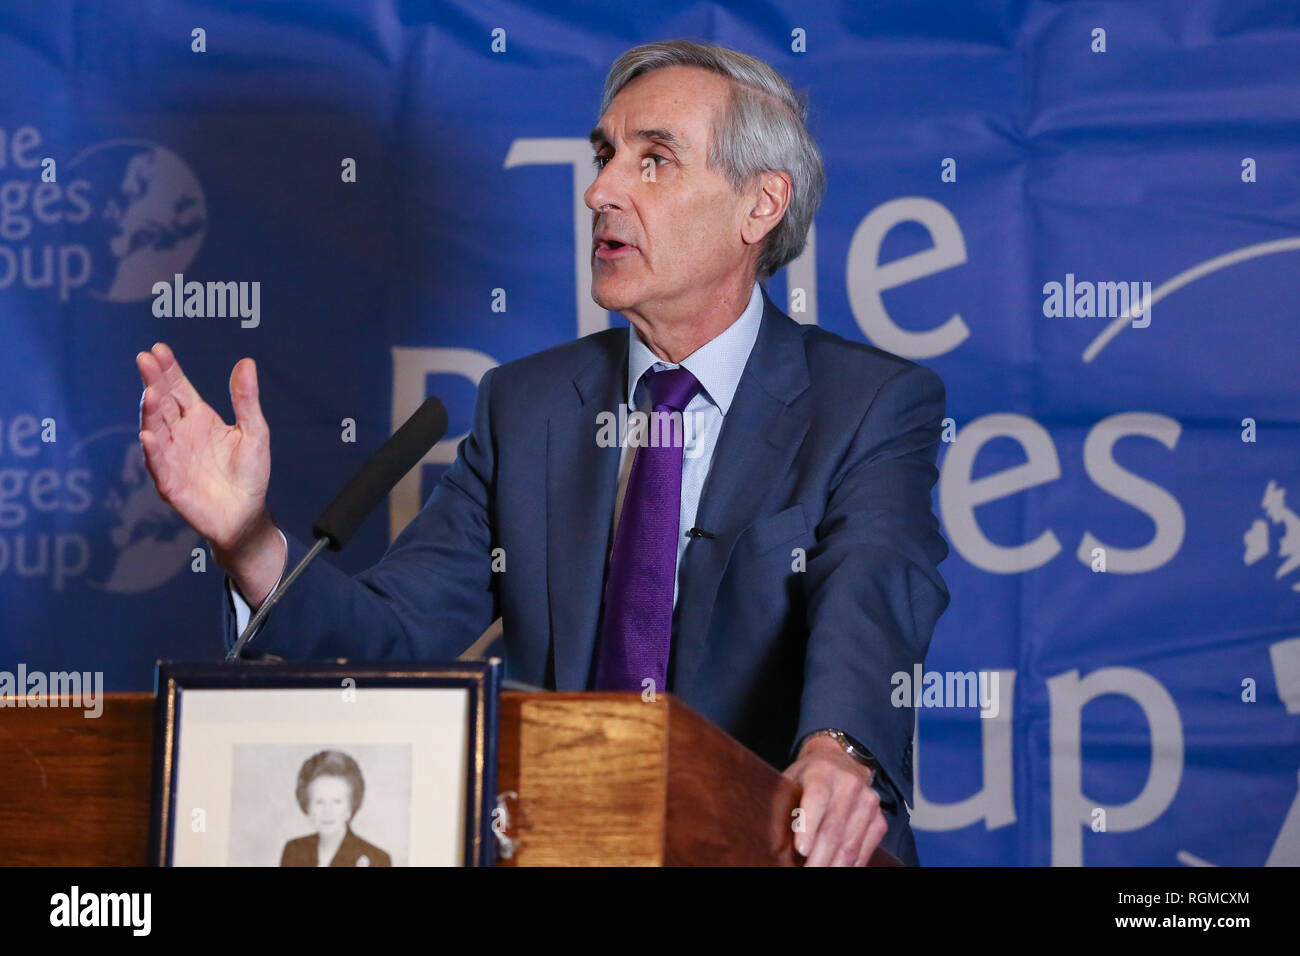
<svg viewBox="0 0 1300 956"><path fill-rule="evenodd" d="M261 602L261 607L248 622L244 632L239 635L239 640L226 653L226 662L238 659L239 652L256 636L270 609L307 570L307 566L316 559L316 555L326 546L337 551L347 544L361 520L387 497L402 476L419 464L425 451L446 433L446 406L437 398L426 398L424 405L416 408L415 414L374 453L374 457L361 466L361 470L316 519L316 524L312 525L316 544Z"/></svg>

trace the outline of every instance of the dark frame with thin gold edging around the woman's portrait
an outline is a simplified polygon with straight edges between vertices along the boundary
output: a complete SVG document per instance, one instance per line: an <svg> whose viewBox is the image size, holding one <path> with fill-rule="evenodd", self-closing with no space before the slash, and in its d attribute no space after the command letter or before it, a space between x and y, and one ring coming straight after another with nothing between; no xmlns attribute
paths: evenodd
<svg viewBox="0 0 1300 956"><path fill-rule="evenodd" d="M497 799L497 736L502 662L360 665L256 662L243 665L159 661L155 672L153 783L150 864L170 866L174 849L177 769L186 689L338 689L344 678L363 688L460 688L468 692L464 866L497 858L491 813Z"/></svg>

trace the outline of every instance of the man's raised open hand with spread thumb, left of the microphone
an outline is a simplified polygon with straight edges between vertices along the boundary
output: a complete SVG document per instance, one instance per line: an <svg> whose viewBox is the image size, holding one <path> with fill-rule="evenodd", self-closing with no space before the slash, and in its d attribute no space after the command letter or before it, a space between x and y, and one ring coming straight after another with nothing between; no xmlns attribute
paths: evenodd
<svg viewBox="0 0 1300 956"><path fill-rule="evenodd" d="M199 397L162 342L135 364L144 380L140 445L159 494L212 542L244 597L260 604L280 576L283 545L266 511L270 429L254 360L240 359L230 373L233 425Z"/></svg>

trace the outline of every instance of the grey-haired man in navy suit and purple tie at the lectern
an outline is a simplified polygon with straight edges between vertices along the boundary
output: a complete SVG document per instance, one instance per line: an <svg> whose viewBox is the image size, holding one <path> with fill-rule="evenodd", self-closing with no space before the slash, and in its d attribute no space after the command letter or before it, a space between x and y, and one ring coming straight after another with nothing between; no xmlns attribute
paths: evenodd
<svg viewBox="0 0 1300 956"><path fill-rule="evenodd" d="M733 51L620 57L585 199L592 297L630 329L485 375L456 460L382 561L355 578L316 562L256 644L448 658L500 617L510 676L667 689L786 767L809 865L862 865L878 845L916 862L914 714L890 706L890 678L924 659L948 605L930 502L944 388L794 323L759 285L820 203L805 116ZM166 346L138 364L146 459L230 575L229 641L306 551L266 511L256 372L231 373L226 427ZM610 440L624 405L670 441Z"/></svg>

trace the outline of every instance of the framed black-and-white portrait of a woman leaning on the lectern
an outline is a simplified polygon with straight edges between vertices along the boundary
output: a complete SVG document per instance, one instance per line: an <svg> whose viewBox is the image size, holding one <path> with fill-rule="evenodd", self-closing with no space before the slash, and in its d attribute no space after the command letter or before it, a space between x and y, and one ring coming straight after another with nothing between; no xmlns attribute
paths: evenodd
<svg viewBox="0 0 1300 956"><path fill-rule="evenodd" d="M157 666L159 866L495 858L500 661Z"/></svg>

